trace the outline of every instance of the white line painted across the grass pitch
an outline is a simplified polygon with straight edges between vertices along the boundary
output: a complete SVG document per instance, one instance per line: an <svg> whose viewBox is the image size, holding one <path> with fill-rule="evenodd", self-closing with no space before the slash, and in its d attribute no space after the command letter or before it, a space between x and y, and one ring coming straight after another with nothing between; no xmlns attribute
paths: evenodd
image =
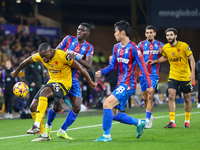
<svg viewBox="0 0 200 150"><path fill-rule="evenodd" d="M191 114L199 114L200 112L193 112ZM184 114L176 114L176 116L183 116L185 115ZM158 117L155 117L155 119L159 119L159 118L166 118L166 117L169 117L169 115L167 116L158 116ZM112 124L118 124L120 122L114 122ZM97 124L97 125L92 125L92 126L84 126L84 127L78 127L78 128L72 128L72 129L67 129L67 131L69 130L78 130L78 129L86 129L86 128L93 128L93 127L99 127L99 126L102 126L102 124ZM57 132L57 131L52 131L52 132ZM30 136L32 134L24 134L24 135L16 135L16 136L8 136L8 137L0 137L0 140L3 140L3 139L11 139L11 138L17 138L17 137L23 137L23 136Z"/></svg>

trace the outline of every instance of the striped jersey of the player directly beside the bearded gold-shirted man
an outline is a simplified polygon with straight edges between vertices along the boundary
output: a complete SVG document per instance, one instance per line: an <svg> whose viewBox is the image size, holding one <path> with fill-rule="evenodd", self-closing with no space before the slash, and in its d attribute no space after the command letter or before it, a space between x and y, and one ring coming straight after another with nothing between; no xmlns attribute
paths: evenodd
<svg viewBox="0 0 200 150"><path fill-rule="evenodd" d="M159 53L158 49L162 48L163 46L164 44L157 40L154 40L153 43L148 42L148 40L144 40L138 44L138 47L141 50L142 55L144 57L145 63L148 60L156 60L160 58L161 54ZM147 64L146 67L150 75L159 74L160 63L155 63L153 65ZM141 71L140 75L142 75Z"/></svg>

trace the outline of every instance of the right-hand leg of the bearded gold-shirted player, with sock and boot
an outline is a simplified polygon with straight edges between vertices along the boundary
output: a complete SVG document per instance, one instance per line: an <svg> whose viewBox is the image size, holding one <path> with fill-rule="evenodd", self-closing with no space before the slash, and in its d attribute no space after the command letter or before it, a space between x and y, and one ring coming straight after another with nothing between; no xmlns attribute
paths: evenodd
<svg viewBox="0 0 200 150"><path fill-rule="evenodd" d="M185 100L185 123L184 127L189 128L190 127L190 115L191 115L191 109L192 109L192 102L191 102L191 94L190 93L183 93L183 97Z"/></svg>

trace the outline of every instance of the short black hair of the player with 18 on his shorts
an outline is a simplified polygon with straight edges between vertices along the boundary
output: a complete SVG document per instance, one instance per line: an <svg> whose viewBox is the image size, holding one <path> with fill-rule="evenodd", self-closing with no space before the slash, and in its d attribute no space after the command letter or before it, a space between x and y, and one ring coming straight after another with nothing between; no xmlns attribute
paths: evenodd
<svg viewBox="0 0 200 150"><path fill-rule="evenodd" d="M130 36L131 34L131 25L125 21L125 20L121 20L117 23L115 23L114 28L118 27L118 30L121 32L122 30L124 30L126 32L126 36Z"/></svg>

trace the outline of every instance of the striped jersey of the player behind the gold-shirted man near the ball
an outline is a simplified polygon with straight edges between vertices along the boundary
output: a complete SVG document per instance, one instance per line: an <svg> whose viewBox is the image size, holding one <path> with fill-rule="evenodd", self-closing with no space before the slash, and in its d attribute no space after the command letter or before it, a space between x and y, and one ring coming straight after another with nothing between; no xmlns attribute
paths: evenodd
<svg viewBox="0 0 200 150"><path fill-rule="evenodd" d="M85 59L86 56L93 57L94 48L93 46L85 41L83 44L79 44L76 36L66 36L59 47L67 53L74 54L80 59ZM77 79L77 69L72 68L72 79Z"/></svg>

